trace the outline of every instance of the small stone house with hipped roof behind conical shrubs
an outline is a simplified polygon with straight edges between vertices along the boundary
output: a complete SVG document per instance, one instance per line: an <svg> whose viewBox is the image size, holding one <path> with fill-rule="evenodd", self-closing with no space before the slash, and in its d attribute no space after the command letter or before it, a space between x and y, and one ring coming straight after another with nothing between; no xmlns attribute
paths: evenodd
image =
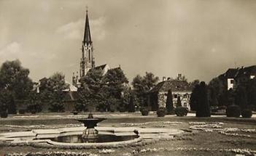
<svg viewBox="0 0 256 156"><path fill-rule="evenodd" d="M187 81L179 79L168 78L166 81L163 79L162 82L158 83L150 91L150 106L152 110L158 110L159 107L166 107L166 99L168 90L172 91L172 98L174 107L177 107L178 98L181 99L182 107L187 107L190 110L190 97L192 89Z"/></svg>

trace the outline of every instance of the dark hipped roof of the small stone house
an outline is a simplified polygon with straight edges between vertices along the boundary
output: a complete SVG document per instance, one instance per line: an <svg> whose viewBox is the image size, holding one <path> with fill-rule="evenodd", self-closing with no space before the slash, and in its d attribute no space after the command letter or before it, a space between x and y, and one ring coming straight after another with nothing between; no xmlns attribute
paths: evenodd
<svg viewBox="0 0 256 156"><path fill-rule="evenodd" d="M170 80L170 81L162 81L157 84L151 92L160 92L160 91L192 91L189 83L187 81L179 81L179 80Z"/></svg>

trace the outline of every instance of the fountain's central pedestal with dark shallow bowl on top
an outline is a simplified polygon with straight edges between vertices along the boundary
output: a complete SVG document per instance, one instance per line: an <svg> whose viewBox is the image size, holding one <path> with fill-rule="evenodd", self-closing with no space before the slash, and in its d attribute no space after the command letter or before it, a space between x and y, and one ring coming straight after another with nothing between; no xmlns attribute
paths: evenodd
<svg viewBox="0 0 256 156"><path fill-rule="evenodd" d="M85 131L82 132L83 142L96 142L98 140L98 130L96 130L97 123L106 120L106 118L93 118L93 114L90 113L88 118L77 119L80 123L84 123Z"/></svg>

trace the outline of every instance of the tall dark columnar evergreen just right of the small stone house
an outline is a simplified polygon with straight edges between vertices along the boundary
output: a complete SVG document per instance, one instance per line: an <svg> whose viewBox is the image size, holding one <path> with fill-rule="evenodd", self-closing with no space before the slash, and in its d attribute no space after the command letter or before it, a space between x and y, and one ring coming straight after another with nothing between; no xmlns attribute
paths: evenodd
<svg viewBox="0 0 256 156"><path fill-rule="evenodd" d="M209 95L208 89L205 82L201 82L198 88L198 106L196 110L196 117L210 117L210 107L209 107Z"/></svg>

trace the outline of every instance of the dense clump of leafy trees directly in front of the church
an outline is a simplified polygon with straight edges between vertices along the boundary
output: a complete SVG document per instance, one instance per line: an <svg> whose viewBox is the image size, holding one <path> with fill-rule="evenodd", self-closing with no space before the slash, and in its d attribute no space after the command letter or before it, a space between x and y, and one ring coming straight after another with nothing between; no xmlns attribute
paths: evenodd
<svg viewBox="0 0 256 156"><path fill-rule="evenodd" d="M81 78L77 110L114 112L128 105L128 79L117 67L103 75L102 70L92 69Z"/></svg>

